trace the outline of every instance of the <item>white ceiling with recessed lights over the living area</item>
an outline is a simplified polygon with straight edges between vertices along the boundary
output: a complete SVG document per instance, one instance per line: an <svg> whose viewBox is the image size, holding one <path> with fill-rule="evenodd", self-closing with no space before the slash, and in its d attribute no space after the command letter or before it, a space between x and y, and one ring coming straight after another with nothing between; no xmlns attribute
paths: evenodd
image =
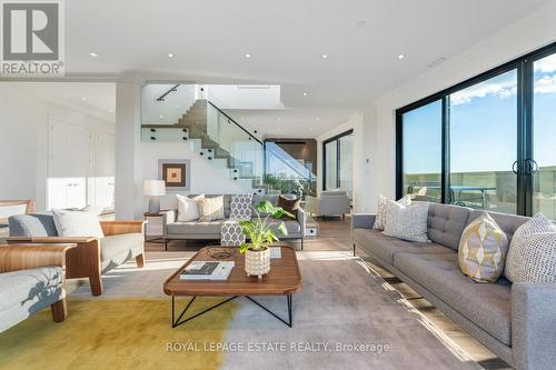
<svg viewBox="0 0 556 370"><path fill-rule="evenodd" d="M66 67L78 73L278 83L290 108L358 109L548 2L66 1Z"/></svg>

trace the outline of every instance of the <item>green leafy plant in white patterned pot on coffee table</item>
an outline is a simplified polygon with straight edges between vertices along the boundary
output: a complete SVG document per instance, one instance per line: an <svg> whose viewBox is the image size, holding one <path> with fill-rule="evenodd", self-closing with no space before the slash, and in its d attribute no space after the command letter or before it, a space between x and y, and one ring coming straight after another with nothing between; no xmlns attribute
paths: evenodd
<svg viewBox="0 0 556 370"><path fill-rule="evenodd" d="M240 221L239 226L249 242L239 247L245 253L245 271L247 276L256 276L259 279L270 271L270 249L268 248L278 237L270 229L269 219L280 219L282 216L295 218L294 214L280 207L275 207L269 201L261 201L254 207L257 217L250 221ZM287 236L286 224L278 224L278 232Z"/></svg>

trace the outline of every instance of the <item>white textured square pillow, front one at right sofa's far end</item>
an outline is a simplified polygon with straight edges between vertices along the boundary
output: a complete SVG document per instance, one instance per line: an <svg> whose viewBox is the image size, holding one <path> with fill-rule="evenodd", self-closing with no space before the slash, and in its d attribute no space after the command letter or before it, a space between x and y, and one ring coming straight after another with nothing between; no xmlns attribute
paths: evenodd
<svg viewBox="0 0 556 370"><path fill-rule="evenodd" d="M404 206L386 201L386 224L383 233L409 241L429 242L427 237L428 202Z"/></svg>

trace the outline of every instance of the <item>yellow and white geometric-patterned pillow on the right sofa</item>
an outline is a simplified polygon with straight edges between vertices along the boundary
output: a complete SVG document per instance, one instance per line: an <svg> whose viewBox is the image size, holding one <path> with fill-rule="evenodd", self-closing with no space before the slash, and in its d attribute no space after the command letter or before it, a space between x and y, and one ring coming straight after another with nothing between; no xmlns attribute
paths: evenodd
<svg viewBox="0 0 556 370"><path fill-rule="evenodd" d="M504 272L508 238L485 213L470 222L459 240L459 268L476 282L495 282Z"/></svg>

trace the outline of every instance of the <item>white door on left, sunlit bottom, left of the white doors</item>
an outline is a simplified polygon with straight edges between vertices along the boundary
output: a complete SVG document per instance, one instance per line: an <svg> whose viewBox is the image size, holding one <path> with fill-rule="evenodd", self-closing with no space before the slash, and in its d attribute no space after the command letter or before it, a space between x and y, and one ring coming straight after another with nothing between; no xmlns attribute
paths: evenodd
<svg viewBox="0 0 556 370"><path fill-rule="evenodd" d="M87 206L90 129L51 118L48 143L47 209Z"/></svg>

